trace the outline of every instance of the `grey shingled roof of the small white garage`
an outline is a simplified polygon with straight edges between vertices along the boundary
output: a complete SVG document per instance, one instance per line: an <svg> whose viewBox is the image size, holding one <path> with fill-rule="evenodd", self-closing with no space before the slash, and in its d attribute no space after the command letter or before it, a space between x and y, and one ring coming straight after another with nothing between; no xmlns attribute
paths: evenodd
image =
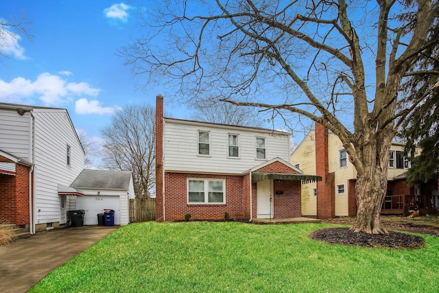
<svg viewBox="0 0 439 293"><path fill-rule="evenodd" d="M128 190L131 171L83 169L70 187L80 189Z"/></svg>

